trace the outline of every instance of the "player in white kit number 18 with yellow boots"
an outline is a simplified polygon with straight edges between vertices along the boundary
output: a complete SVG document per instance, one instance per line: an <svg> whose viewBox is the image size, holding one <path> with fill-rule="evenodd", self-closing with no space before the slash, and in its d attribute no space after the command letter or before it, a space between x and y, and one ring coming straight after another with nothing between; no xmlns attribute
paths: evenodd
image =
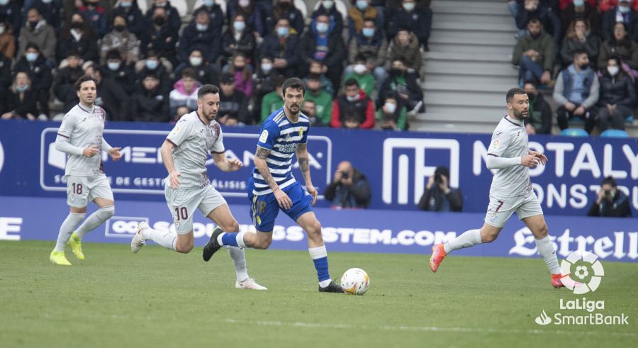
<svg viewBox="0 0 638 348"><path fill-rule="evenodd" d="M84 259L82 237L115 213L113 191L102 169L101 152L108 152L114 161L122 157L121 148L111 147L102 137L106 112L94 104L97 95L95 80L84 75L75 83L75 89L80 102L62 119L55 140L55 149L67 154L65 178L71 212L60 227L49 259L54 264L65 266L71 265L65 257L65 244L71 245L78 259ZM89 201L96 203L99 209L74 231L86 216Z"/></svg>

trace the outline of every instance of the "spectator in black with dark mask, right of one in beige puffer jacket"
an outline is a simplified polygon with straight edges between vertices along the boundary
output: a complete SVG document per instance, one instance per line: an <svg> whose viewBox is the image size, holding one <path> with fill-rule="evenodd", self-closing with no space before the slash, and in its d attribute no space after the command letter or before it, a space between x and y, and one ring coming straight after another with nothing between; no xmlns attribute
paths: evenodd
<svg viewBox="0 0 638 348"><path fill-rule="evenodd" d="M154 50L159 57L168 60L174 67L177 67L175 45L177 44L178 31L172 30L167 18L166 9L156 6L152 13L150 25L147 30L144 30L140 38L140 52L142 56L146 56L149 50Z"/></svg>

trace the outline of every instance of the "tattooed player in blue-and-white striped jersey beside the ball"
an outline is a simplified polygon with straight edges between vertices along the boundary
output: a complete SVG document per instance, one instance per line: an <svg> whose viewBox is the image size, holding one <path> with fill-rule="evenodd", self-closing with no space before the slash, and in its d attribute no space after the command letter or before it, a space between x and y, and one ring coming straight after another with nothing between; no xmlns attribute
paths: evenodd
<svg viewBox="0 0 638 348"><path fill-rule="evenodd" d="M281 86L284 106L262 125L247 188L252 204L250 215L257 232L228 233L217 229L204 247L203 259L211 259L223 245L267 249L272 243L275 218L281 210L308 234L308 252L317 271L319 291L343 293L341 286L330 280L321 224L312 208L318 193L310 179L306 147L310 120L301 112L305 92L306 86L301 79L287 79ZM292 174L293 155L297 155L307 192Z"/></svg>

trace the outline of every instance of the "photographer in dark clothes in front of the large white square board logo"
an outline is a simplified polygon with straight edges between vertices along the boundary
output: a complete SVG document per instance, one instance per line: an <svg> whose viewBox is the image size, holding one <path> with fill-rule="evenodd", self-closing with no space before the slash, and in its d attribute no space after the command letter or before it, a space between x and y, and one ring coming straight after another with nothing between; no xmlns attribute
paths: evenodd
<svg viewBox="0 0 638 348"><path fill-rule="evenodd" d="M449 187L449 169L437 167L430 176L425 192L419 201L422 211L463 211L463 195L461 189Z"/></svg>

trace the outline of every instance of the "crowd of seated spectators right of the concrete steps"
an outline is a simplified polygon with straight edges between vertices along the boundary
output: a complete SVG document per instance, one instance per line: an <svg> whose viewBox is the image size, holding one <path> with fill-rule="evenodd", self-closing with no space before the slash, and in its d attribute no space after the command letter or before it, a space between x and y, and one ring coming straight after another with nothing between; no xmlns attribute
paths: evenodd
<svg viewBox="0 0 638 348"><path fill-rule="evenodd" d="M554 89L561 130L625 129L637 106L637 0L510 0L519 29L512 63L530 96L530 134L551 133L552 110L538 89Z"/></svg>

